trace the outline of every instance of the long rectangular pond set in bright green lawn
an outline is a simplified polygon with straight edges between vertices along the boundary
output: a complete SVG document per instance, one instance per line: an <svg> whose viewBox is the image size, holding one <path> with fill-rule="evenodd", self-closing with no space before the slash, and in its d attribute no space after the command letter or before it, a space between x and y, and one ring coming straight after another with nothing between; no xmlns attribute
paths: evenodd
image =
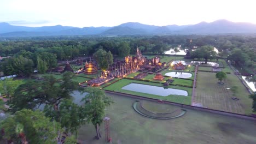
<svg viewBox="0 0 256 144"><path fill-rule="evenodd" d="M164 88L164 87L143 85L139 83L131 83L129 85L124 86L122 89L125 89L128 91L140 92L140 93L160 95L163 97L166 97L170 94L188 96L188 92L181 89Z"/></svg>

